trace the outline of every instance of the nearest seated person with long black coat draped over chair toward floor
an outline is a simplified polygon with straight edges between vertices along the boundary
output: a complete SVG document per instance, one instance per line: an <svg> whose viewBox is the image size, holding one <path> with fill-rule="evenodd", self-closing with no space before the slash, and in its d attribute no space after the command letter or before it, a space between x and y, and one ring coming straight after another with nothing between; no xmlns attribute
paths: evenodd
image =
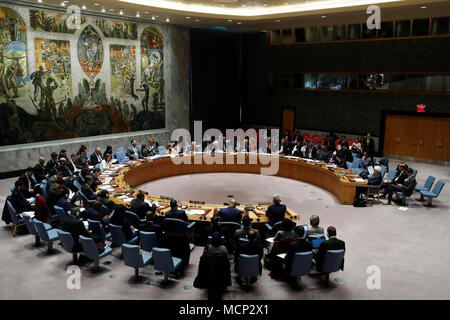
<svg viewBox="0 0 450 320"><path fill-rule="evenodd" d="M218 232L213 233L211 244L206 245L200 257L194 287L208 290L208 300L220 300L227 287L231 286L230 263L225 246Z"/></svg>

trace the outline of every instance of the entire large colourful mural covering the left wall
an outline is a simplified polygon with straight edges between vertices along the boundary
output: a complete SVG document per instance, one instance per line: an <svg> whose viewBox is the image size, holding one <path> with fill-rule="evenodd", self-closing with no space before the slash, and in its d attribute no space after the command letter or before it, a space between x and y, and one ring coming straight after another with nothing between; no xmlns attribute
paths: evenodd
<svg viewBox="0 0 450 320"><path fill-rule="evenodd" d="M147 27L139 39L128 22L83 17L74 30L59 13L29 10L24 18L32 30L0 7L0 145L165 127L159 30Z"/></svg>

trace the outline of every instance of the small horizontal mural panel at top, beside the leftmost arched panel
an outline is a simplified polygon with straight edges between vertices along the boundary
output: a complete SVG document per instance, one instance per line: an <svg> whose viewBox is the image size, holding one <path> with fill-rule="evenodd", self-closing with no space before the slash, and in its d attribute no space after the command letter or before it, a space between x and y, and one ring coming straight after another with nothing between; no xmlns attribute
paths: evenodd
<svg viewBox="0 0 450 320"><path fill-rule="evenodd" d="M74 34L77 29L68 27L68 25L72 26L74 23L70 20L67 22L69 17L69 15L62 13L30 10L30 25L36 31ZM80 16L80 19L81 24L86 22L86 17Z"/></svg>

